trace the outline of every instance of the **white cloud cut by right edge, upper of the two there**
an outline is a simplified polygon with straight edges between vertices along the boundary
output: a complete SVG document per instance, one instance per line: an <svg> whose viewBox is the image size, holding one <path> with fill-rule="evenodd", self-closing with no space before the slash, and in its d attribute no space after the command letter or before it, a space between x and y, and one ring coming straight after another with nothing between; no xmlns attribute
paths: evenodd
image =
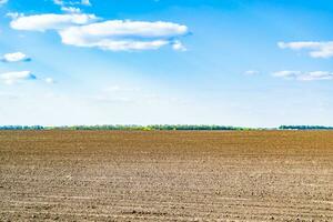
<svg viewBox="0 0 333 222"><path fill-rule="evenodd" d="M312 58L331 58L333 57L333 41L327 42L279 42L281 49L306 50Z"/></svg>

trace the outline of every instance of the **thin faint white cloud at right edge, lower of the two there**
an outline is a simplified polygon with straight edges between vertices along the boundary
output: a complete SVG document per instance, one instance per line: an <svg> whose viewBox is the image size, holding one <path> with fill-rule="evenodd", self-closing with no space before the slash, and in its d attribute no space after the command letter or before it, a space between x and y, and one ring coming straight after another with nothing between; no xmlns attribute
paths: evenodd
<svg viewBox="0 0 333 222"><path fill-rule="evenodd" d="M333 72L326 72L326 71L313 71L313 72L279 71L279 72L274 72L272 75L276 78L299 80L299 81L333 80Z"/></svg>

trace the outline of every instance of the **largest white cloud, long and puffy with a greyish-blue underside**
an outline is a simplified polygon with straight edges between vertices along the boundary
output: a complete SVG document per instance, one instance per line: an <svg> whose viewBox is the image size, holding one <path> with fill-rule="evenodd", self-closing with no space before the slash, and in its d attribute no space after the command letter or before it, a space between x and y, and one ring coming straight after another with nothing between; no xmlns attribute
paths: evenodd
<svg viewBox="0 0 333 222"><path fill-rule="evenodd" d="M111 51L159 49L174 44L174 38L188 33L188 27L172 22L110 20L59 31L64 44ZM180 49L182 44L176 48ZM183 48L183 47L182 47Z"/></svg>

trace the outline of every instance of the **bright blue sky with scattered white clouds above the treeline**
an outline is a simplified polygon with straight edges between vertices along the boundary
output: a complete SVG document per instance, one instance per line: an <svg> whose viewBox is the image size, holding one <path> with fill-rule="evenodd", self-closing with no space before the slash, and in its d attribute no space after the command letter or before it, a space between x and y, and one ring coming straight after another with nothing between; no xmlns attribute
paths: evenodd
<svg viewBox="0 0 333 222"><path fill-rule="evenodd" d="M333 125L331 0L0 0L0 125Z"/></svg>

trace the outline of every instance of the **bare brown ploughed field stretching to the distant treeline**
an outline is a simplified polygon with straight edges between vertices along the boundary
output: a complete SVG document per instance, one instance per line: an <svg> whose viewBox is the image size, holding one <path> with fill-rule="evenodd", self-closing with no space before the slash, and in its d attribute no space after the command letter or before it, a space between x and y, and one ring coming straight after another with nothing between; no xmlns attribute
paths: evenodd
<svg viewBox="0 0 333 222"><path fill-rule="evenodd" d="M0 221L333 221L333 131L0 131Z"/></svg>

